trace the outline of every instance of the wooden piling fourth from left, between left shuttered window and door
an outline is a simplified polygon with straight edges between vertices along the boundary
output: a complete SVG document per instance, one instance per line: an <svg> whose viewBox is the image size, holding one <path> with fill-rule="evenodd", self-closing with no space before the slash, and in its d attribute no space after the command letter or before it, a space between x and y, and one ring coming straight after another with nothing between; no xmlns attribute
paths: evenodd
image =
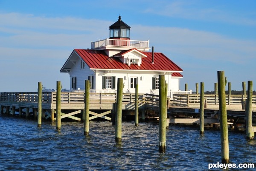
<svg viewBox="0 0 256 171"><path fill-rule="evenodd" d="M122 90L123 78L118 78L116 96L116 142L120 142L122 140Z"/></svg>

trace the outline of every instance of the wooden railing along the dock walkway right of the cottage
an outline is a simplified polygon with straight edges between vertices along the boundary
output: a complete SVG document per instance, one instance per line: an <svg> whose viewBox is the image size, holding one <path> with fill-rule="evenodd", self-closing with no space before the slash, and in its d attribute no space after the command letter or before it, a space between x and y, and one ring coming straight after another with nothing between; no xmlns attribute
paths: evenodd
<svg viewBox="0 0 256 171"><path fill-rule="evenodd" d="M204 95L207 108L218 108L218 95ZM242 109L242 100L247 95L226 95L227 109ZM185 107L200 107L200 94L173 94L173 104ZM256 95L253 95L253 108L256 109Z"/></svg>

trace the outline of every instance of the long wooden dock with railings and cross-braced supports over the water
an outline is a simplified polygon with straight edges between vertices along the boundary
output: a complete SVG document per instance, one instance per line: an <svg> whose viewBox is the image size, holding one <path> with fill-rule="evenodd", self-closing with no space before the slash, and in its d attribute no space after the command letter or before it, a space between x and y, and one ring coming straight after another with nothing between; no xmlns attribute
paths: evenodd
<svg viewBox="0 0 256 171"><path fill-rule="evenodd" d="M205 95L205 124L218 123L218 95ZM244 124L245 110L242 109L241 99L246 95L227 95L227 115L229 123ZM114 112L113 104L116 103L116 93L90 93L90 120L103 118L111 120ZM159 95L139 94L138 108L144 113L144 118L159 118ZM173 100L169 100L168 123L198 123L200 95L174 94ZM37 92L16 92L0 94L0 113L12 114L19 112L19 115L33 115L37 118L38 93ZM230 109L232 108L232 109ZM256 96L253 96L253 121L256 120ZM123 93L122 110L130 111L134 115L135 94ZM146 112L145 112L146 111ZM83 120L84 93L61 92L61 119L71 118L77 121ZM80 117L76 117L78 115ZM146 116L145 116L146 115ZM42 118L52 121L56 119L56 92L42 93Z"/></svg>

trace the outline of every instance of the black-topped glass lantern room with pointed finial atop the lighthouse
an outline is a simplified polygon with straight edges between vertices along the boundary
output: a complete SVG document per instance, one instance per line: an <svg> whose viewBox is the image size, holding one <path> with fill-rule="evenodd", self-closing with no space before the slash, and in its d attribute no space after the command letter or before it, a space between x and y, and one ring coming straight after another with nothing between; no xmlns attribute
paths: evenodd
<svg viewBox="0 0 256 171"><path fill-rule="evenodd" d="M117 22L109 26L109 39L130 39L131 27L121 20L121 16L118 18Z"/></svg>

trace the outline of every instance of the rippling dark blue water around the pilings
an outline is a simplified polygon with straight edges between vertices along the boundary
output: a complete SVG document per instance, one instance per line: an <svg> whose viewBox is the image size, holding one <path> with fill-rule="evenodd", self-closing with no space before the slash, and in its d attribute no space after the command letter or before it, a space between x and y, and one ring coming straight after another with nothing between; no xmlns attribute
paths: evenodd
<svg viewBox="0 0 256 171"><path fill-rule="evenodd" d="M90 122L89 133L79 122L63 122L58 132L55 123L38 128L36 121L0 116L0 170L208 170L208 163L221 163L218 130L199 135L198 128L170 126L166 153L158 152L158 123L122 123L121 143L111 122ZM256 140L229 132L229 144L230 163L255 163Z"/></svg>

